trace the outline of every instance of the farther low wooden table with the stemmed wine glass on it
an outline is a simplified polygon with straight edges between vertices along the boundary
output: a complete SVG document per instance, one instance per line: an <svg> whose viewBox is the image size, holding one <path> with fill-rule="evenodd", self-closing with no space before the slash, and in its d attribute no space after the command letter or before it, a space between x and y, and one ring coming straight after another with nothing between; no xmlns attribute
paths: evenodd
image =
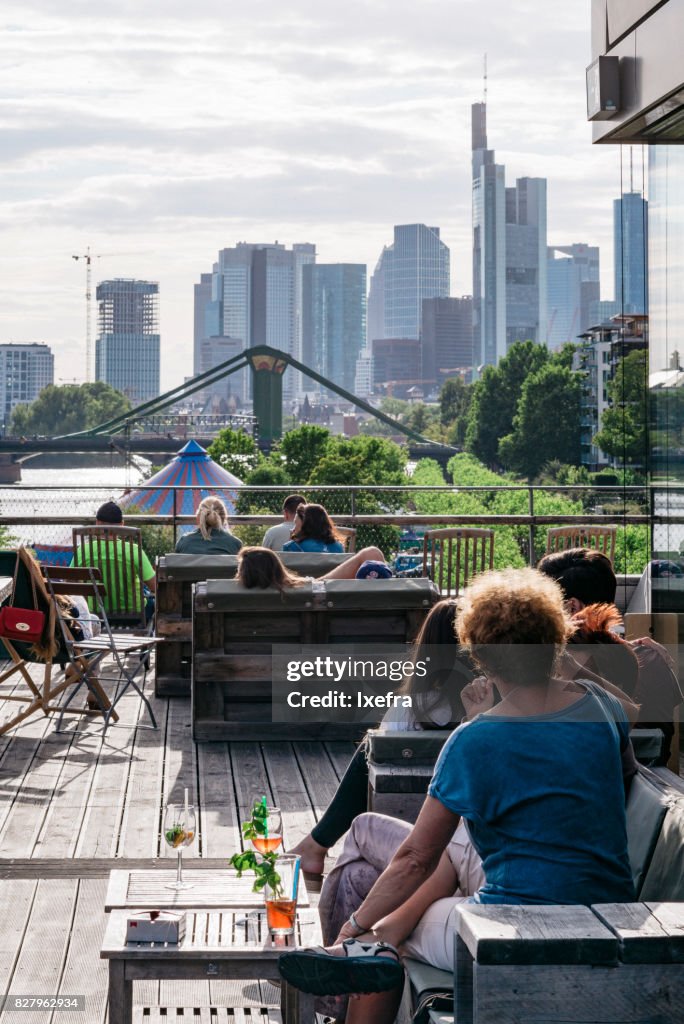
<svg viewBox="0 0 684 1024"><path fill-rule="evenodd" d="M186 862L188 865L191 860ZM252 892L251 873L239 879L233 870L197 870L183 865L183 879L191 889L168 889L175 882L173 870L110 871L110 884L104 898L105 911L118 908L152 909L213 909L227 906L262 907L263 895ZM297 904L309 906L304 880L300 880Z"/></svg>

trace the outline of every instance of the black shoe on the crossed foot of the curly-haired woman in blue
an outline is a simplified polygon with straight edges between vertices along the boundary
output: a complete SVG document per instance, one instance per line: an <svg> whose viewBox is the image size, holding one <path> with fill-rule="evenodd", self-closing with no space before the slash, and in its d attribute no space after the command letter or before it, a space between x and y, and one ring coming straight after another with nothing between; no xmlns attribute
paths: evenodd
<svg viewBox="0 0 684 1024"><path fill-rule="evenodd" d="M281 953L281 977L312 995L386 992L403 984L399 954L388 942L345 939L342 945L344 956L334 956L323 946ZM384 952L395 958L382 956Z"/></svg>

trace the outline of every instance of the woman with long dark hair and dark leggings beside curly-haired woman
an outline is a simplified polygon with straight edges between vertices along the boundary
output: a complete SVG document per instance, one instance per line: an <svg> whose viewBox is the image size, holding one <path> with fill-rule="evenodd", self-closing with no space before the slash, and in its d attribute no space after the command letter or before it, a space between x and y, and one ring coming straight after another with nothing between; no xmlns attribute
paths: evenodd
<svg viewBox="0 0 684 1024"><path fill-rule="evenodd" d="M380 723L383 731L399 729L453 729L465 715L461 691L473 678L470 658L459 651L454 631L456 600L447 598L434 604L416 637L414 664L426 655L430 671L422 677L407 677L400 693L413 698L413 707L390 709ZM292 853L302 858L302 870L318 874L332 846L351 827L354 818L366 811L368 800L369 743L364 738L347 766L335 796L319 821Z"/></svg>

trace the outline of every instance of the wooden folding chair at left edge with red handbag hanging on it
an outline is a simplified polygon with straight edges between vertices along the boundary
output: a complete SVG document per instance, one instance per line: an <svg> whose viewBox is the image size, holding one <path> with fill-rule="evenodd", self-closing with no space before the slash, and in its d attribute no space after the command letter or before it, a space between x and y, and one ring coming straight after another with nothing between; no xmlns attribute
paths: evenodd
<svg viewBox="0 0 684 1024"><path fill-rule="evenodd" d="M26 690L4 694L3 699L20 703L17 713L0 725L0 735L14 728L36 712L45 716L61 715L63 705L61 694L80 686L80 670L73 664L70 652L61 639L56 618L56 609L46 590L40 566L24 548L16 551L0 551L0 574L13 578L12 594L9 600L18 608L35 608L45 613L45 629L40 640L23 643L3 637L0 639L0 658L7 657L9 666L0 671L0 683L16 676L16 682L26 685ZM40 665L42 672L37 681L31 667ZM35 672L35 670L34 670ZM104 714L109 700L96 686L93 690L93 709L74 711L83 714ZM59 699L57 699L59 698ZM116 712L112 716L118 719Z"/></svg>

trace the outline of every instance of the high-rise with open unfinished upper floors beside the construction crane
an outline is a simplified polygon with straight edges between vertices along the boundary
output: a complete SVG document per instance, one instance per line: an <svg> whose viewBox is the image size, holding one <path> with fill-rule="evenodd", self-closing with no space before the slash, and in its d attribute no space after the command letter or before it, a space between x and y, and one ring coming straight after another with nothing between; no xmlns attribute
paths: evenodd
<svg viewBox="0 0 684 1024"><path fill-rule="evenodd" d="M95 380L117 388L136 406L159 394L159 285L117 278L95 291L98 333Z"/></svg>

